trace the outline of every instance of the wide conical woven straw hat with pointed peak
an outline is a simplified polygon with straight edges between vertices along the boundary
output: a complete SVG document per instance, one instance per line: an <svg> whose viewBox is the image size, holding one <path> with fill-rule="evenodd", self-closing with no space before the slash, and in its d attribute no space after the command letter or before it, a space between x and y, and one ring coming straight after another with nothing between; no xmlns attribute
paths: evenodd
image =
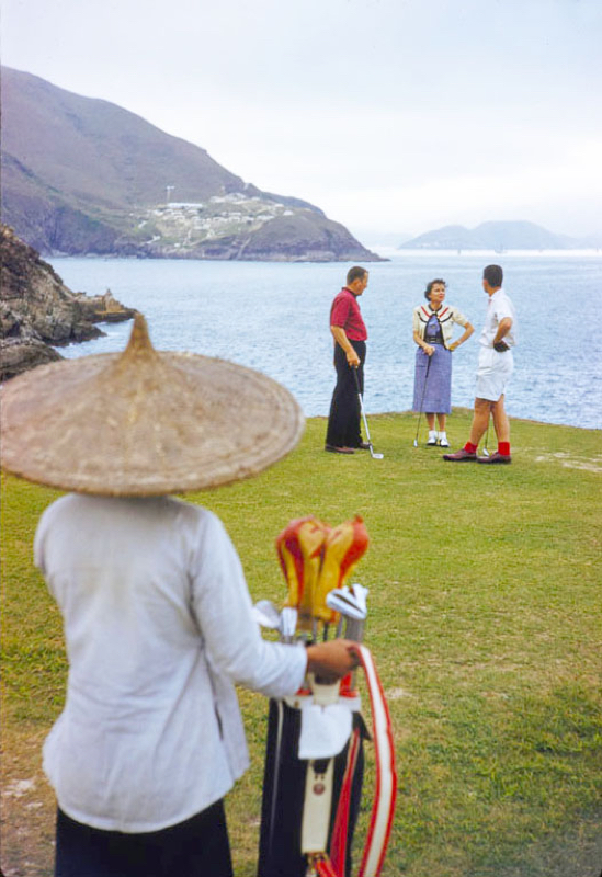
<svg viewBox="0 0 602 877"><path fill-rule="evenodd" d="M39 366L2 388L2 468L112 497L249 478L303 432L288 392L250 368L156 351L137 315L126 350Z"/></svg>

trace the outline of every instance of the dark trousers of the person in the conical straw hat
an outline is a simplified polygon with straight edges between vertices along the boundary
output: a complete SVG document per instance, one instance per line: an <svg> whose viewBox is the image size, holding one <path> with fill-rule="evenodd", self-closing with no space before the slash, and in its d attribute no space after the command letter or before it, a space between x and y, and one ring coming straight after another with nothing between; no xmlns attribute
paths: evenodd
<svg viewBox="0 0 602 877"><path fill-rule="evenodd" d="M141 834L92 829L59 809L55 877L232 877L224 802Z"/></svg>

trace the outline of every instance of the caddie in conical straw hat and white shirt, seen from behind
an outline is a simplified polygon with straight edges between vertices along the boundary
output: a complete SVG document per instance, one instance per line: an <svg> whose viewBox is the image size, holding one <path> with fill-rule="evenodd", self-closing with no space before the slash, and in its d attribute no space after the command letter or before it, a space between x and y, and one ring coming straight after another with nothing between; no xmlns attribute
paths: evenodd
<svg viewBox="0 0 602 877"><path fill-rule="evenodd" d="M273 697L345 675L351 643L264 641L219 520L173 493L265 469L303 415L270 378L127 349L41 366L2 390L2 466L70 491L35 563L64 616L67 698L44 745L56 877L229 877L224 796L248 765L235 683Z"/></svg>

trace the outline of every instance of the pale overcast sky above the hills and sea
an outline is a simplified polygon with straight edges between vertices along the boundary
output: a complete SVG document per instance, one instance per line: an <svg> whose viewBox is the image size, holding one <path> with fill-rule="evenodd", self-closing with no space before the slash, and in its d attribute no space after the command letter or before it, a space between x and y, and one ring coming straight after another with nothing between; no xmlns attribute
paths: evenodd
<svg viewBox="0 0 602 877"><path fill-rule="evenodd" d="M1 0L2 62L363 242L602 232L601 0ZM173 193L177 200L177 193Z"/></svg>

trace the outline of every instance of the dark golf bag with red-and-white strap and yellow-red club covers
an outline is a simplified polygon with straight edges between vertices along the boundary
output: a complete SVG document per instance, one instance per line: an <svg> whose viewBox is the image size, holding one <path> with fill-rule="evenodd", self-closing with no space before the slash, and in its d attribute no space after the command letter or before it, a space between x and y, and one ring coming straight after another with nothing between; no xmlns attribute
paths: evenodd
<svg viewBox="0 0 602 877"><path fill-rule="evenodd" d="M276 539L288 584L287 607L298 613L295 638L316 640L318 625L362 639L367 589L344 584L367 548L362 519L331 528L315 517L292 521ZM291 639L288 639L291 641ZM360 877L376 877L395 806L390 718L370 651L356 646L372 707L376 790ZM364 742L352 674L320 684L311 674L294 697L270 702L258 877L352 877L351 847L360 813Z"/></svg>

